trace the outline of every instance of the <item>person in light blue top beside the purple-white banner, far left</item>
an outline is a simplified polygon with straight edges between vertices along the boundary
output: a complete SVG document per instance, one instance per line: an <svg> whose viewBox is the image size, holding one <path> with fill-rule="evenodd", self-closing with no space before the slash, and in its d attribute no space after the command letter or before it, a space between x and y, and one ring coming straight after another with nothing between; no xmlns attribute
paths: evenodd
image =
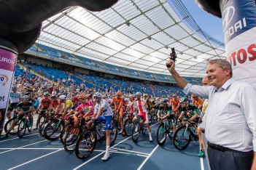
<svg viewBox="0 0 256 170"><path fill-rule="evenodd" d="M12 110L15 106L21 102L21 93L17 91L18 86L12 86L12 92L9 94L9 108L7 110L7 118L8 120L11 118Z"/></svg>

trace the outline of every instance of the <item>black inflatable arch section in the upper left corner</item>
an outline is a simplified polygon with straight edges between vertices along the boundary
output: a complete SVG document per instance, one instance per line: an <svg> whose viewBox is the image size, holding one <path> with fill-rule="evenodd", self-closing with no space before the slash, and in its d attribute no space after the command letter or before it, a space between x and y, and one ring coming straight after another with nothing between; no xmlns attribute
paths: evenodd
<svg viewBox="0 0 256 170"><path fill-rule="evenodd" d="M39 37L42 22L63 11L80 6L96 12L112 7L118 0L1 0L0 39L11 41L18 53L25 52ZM5 41L0 41L3 43ZM4 45L4 44L0 44ZM8 44L9 46L9 44Z"/></svg>

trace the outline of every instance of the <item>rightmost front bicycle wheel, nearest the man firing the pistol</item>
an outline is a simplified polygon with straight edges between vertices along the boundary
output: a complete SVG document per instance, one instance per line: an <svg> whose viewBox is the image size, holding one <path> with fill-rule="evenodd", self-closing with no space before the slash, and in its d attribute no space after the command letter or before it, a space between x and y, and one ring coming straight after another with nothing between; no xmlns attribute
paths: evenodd
<svg viewBox="0 0 256 170"><path fill-rule="evenodd" d="M186 126L180 126L174 133L174 147L177 150L185 150L190 145L190 131Z"/></svg>

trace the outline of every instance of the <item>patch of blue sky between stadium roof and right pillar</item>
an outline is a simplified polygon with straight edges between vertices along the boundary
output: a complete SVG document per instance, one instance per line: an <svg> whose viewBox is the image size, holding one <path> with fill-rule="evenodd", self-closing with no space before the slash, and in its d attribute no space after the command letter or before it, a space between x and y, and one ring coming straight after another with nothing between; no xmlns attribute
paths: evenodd
<svg viewBox="0 0 256 170"><path fill-rule="evenodd" d="M168 0L168 2L172 4L171 0ZM215 17L199 8L194 0L182 0L182 3L187 8L188 12L190 12L195 23L197 23L203 31L206 31L206 33L214 39L224 42L221 18Z"/></svg>

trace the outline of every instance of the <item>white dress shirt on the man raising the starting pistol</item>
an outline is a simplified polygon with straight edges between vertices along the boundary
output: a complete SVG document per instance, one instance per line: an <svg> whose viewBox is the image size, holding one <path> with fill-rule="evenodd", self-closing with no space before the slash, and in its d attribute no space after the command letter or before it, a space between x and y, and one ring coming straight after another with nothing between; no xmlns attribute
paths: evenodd
<svg viewBox="0 0 256 170"><path fill-rule="evenodd" d="M187 84L185 93L208 98L206 139L222 147L256 151L256 90L230 78L220 89Z"/></svg>

